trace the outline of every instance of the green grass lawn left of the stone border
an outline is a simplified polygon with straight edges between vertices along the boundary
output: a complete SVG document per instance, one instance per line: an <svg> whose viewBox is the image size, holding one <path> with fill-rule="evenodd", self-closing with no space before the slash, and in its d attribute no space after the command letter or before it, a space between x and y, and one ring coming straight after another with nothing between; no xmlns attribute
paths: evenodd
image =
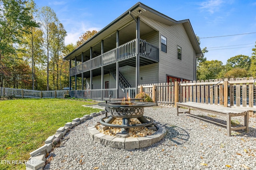
<svg viewBox="0 0 256 170"><path fill-rule="evenodd" d="M92 102L63 99L0 100L0 169L26 169L25 164L2 161L28 160L59 127L100 109L83 107Z"/></svg>

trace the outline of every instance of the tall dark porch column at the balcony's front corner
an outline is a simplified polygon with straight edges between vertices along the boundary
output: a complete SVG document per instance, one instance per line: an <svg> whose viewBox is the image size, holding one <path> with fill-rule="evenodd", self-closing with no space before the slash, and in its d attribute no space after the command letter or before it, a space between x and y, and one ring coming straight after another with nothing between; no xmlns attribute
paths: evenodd
<svg viewBox="0 0 256 170"><path fill-rule="evenodd" d="M140 18L137 18L136 22L136 89L140 83L140 56L139 56L139 50L140 50ZM136 90L137 93L137 90Z"/></svg>

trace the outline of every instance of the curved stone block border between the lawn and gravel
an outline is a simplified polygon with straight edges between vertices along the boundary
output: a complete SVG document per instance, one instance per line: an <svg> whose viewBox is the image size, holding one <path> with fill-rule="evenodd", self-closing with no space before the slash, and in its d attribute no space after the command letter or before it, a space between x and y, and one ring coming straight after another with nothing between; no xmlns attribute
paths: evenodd
<svg viewBox="0 0 256 170"><path fill-rule="evenodd" d="M84 115L84 117L78 117L76 119L73 119L72 122L66 123L64 127L60 127L54 135L49 136L46 141L44 141L44 146L34 150L33 152L30 152L30 158L26 162L26 170L43 170L46 161L45 157L48 153L52 151L53 139L62 139L62 137L64 137L70 129L74 128L75 126L88 119L103 114L105 114L105 111L100 111L97 113L93 112L90 113L90 115Z"/></svg>

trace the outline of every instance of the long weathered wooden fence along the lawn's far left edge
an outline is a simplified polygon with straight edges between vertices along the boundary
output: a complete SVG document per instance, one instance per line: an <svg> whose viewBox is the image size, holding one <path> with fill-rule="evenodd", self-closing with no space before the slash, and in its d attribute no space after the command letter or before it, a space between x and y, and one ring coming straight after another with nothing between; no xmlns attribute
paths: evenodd
<svg viewBox="0 0 256 170"><path fill-rule="evenodd" d="M0 96L14 95L21 98L63 98L67 90L39 91L16 88L0 88Z"/></svg>

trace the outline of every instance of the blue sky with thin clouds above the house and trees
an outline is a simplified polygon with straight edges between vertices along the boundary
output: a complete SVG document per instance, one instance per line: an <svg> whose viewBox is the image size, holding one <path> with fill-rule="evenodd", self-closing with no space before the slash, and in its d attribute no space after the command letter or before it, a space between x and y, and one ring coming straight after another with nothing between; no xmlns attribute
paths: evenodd
<svg viewBox="0 0 256 170"><path fill-rule="evenodd" d="M137 2L138 0L35 0L39 8L51 7L63 23L68 34L66 45L75 44L80 35L88 30L100 31ZM205 54L209 61L219 60L226 64L230 57L252 55L256 42L255 0L140 2L174 20L189 19L194 32L201 38L201 49L207 47L209 50Z"/></svg>

